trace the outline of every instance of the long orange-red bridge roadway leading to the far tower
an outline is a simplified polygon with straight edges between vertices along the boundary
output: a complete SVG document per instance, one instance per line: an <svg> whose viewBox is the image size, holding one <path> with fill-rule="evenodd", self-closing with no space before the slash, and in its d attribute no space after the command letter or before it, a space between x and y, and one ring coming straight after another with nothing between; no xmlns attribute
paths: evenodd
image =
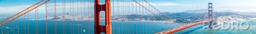
<svg viewBox="0 0 256 34"><path fill-rule="evenodd" d="M189 23L187 25L179 26L179 27L176 27L176 28L173 28L173 29L169 29L169 30L165 30L165 31L162 31L162 32L159 32L159 33L155 33L155 34L174 34L174 33L177 33L179 31L191 28L193 26L196 26L196 25L199 25L199 24L203 24L203 23L206 23L206 22L210 22L210 21L215 21L215 20L217 20L217 19L202 20L202 21L199 21L199 22L196 22L196 23Z"/></svg>

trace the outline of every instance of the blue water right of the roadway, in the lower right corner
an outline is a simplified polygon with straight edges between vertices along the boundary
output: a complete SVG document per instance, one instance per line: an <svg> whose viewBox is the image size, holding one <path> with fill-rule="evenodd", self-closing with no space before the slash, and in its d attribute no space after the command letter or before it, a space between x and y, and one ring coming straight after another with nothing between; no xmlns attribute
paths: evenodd
<svg viewBox="0 0 256 34"><path fill-rule="evenodd" d="M228 30L222 30L222 29L219 29L219 30L206 29L206 30L204 30L204 28L203 28L204 24L201 24L201 25L197 25L192 28L180 31L176 34L256 34L256 20L252 20L252 22L250 22L250 20L244 20L244 21L249 23L249 28L247 30L242 30L242 29L232 30L232 28L230 28ZM235 22L238 23L241 21L235 21ZM236 23L231 24L231 25L236 25ZM227 25L227 24L222 24L220 26L223 26L223 25ZM245 25L245 24L243 24L243 25ZM225 27L228 27L228 26L225 26Z"/></svg>

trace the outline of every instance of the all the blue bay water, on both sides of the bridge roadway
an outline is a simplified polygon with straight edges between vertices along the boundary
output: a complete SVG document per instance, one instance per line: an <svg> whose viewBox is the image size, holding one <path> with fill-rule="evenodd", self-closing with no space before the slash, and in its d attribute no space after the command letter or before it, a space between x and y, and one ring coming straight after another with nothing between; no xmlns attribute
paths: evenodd
<svg viewBox="0 0 256 34"><path fill-rule="evenodd" d="M0 19L3 20L3 19ZM19 34L35 34L35 21L26 20L20 18L19 20L11 21L3 25L3 34L18 34L18 23L19 23ZM245 20L249 21L249 20ZM46 34L46 21L38 20L38 33ZM101 21L101 25L104 25L105 21ZM239 21L236 21L239 22ZM13 25L14 23L14 25ZM54 34L54 21L48 20L48 34ZM65 24L64 24L65 23ZM29 24L29 25L28 25ZM63 24L66 25L63 29ZM81 24L81 25L80 25ZM182 24L170 24L170 23L158 23L158 22L139 22L139 21L112 21L112 33L113 34L154 34L167 29L181 26ZM7 27L8 28L5 28ZM14 26L14 27L13 27ZM17 26L17 27L16 27ZM74 28L73 28L74 26ZM74 30L74 31L73 31ZM85 30L85 31L83 31ZM64 32L65 31L65 32ZM94 34L94 21L57 21L57 34ZM180 31L176 34L256 34L256 20L249 22L248 30L204 30L204 24L194 26L192 28Z"/></svg>

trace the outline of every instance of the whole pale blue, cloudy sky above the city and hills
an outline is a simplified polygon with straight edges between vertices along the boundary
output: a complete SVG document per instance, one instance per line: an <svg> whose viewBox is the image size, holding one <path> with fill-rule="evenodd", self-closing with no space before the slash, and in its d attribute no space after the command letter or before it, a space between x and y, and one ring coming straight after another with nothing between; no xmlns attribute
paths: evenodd
<svg viewBox="0 0 256 34"><path fill-rule="evenodd" d="M29 6L36 4L41 0L0 0L0 17L6 17L14 15ZM71 1L71 3L70 3ZM103 1L103 0L102 0ZM129 2L132 0L111 0L113 14L117 14L118 6L126 6L127 4L136 4L135 2ZM143 0L136 0L142 2ZM177 13L186 10L199 10L207 9L208 3L212 3L214 10L234 10L238 12L256 12L256 0L146 0L157 8L161 12ZM44 2L44 1L43 1ZM65 13L70 13L70 4L73 0L65 0ZM119 3L118 3L119 2ZM129 2L129 3L128 3ZM144 1L143 1L144 2ZM63 0L56 0L57 14L63 14ZM77 4L78 3L78 4ZM82 3L82 6L80 6ZM85 3L85 4L84 4ZM101 2L104 3L104 2ZM143 3L140 3L143 4ZM144 2L144 5L145 2ZM137 5L139 6L139 5ZM148 6L148 5L147 5ZM133 5L131 7L136 7ZM45 15L45 4L38 7L38 15ZM82 8L82 14L92 14L94 10L94 0L74 0L74 14L80 14ZM84 10L86 9L86 10ZM88 10L89 9L89 10ZM116 9L116 10L115 10ZM47 3L47 15L54 15L54 0L50 0ZM92 11L92 12L91 12ZM135 10L133 10L135 11ZM29 15L34 15L35 10L29 12ZM71 12L72 14L72 12Z"/></svg>

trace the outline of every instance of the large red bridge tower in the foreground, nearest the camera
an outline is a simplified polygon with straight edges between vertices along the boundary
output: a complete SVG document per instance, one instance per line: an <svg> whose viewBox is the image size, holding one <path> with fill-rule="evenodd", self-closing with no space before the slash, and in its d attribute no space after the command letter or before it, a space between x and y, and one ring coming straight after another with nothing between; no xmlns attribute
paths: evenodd
<svg viewBox="0 0 256 34"><path fill-rule="evenodd" d="M94 33L95 34L112 34L112 26L111 26L111 4L110 0L105 0L105 4L100 5L99 0L95 0L94 5ZM105 11L105 25L100 25L100 11Z"/></svg>

